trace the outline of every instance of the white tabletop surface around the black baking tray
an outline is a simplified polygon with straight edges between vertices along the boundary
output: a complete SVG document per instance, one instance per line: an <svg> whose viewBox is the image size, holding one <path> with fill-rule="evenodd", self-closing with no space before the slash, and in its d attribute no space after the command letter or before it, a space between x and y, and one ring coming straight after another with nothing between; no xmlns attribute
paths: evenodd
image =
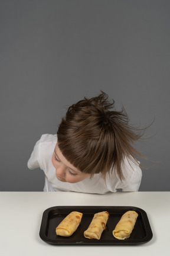
<svg viewBox="0 0 170 256"><path fill-rule="evenodd" d="M106 195L0 192L0 255L170 255L170 192ZM53 206L135 206L148 215L153 238L141 245L50 245L39 236L42 213Z"/></svg>

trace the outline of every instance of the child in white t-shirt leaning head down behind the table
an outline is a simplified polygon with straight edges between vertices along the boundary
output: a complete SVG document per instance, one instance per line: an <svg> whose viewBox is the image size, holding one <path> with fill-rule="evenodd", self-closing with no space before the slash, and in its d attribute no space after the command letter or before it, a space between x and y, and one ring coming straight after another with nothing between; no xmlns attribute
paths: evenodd
<svg viewBox="0 0 170 256"><path fill-rule="evenodd" d="M133 143L141 135L128 125L104 92L68 108L57 135L42 135L28 168L45 173L44 191L104 194L138 191L142 171Z"/></svg>

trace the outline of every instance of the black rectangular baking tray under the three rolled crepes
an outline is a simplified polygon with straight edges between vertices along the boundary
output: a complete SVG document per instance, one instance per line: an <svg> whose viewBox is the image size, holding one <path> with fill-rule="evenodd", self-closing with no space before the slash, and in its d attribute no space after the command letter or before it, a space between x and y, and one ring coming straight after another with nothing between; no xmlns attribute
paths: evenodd
<svg viewBox="0 0 170 256"><path fill-rule="evenodd" d="M128 210L135 210L138 213L135 227L128 239L116 239L112 231L120 217ZM56 235L55 228L73 211L83 213L77 231L68 237ZM84 238L84 231L88 228L94 214L103 211L109 212L110 216L100 240ZM54 206L44 211L40 227L40 238L53 245L139 245L150 241L152 236L146 212L133 206Z"/></svg>

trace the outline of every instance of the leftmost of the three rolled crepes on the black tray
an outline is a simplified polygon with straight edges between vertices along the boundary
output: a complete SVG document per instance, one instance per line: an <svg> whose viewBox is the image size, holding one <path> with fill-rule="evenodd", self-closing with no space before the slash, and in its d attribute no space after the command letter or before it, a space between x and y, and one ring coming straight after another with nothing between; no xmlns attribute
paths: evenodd
<svg viewBox="0 0 170 256"><path fill-rule="evenodd" d="M55 229L57 235L71 236L78 228L81 222L83 213L71 212L63 219Z"/></svg>

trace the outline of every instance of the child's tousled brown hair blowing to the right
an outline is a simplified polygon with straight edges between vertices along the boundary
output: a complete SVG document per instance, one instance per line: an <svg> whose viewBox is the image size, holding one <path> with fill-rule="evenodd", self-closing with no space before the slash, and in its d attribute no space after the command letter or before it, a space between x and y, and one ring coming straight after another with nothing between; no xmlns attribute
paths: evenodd
<svg viewBox="0 0 170 256"><path fill-rule="evenodd" d="M125 157L136 161L142 156L132 146L142 136L139 130L129 126L129 119L122 108L115 110L115 101L108 101L104 92L97 97L86 98L71 105L58 127L58 147L68 162L81 172L117 172L123 180L122 164Z"/></svg>

